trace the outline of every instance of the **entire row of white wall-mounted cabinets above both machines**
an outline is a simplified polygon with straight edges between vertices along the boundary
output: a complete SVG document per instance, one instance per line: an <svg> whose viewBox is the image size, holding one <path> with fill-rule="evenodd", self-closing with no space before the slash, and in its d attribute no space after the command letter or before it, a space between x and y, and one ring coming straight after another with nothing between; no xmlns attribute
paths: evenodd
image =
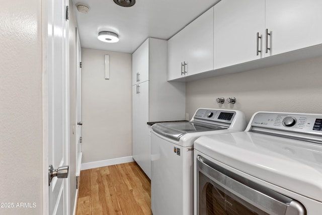
<svg viewBox="0 0 322 215"><path fill-rule="evenodd" d="M168 40L168 81L321 56L321 8L321 0L220 1Z"/></svg>

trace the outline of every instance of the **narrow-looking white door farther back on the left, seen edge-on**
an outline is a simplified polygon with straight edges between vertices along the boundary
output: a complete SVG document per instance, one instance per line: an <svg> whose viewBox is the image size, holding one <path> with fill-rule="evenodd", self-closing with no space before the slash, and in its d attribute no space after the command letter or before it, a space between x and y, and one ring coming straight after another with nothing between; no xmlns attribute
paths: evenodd
<svg viewBox="0 0 322 215"><path fill-rule="evenodd" d="M76 29L76 176L81 174L82 161L82 48L79 41L78 30Z"/></svg>

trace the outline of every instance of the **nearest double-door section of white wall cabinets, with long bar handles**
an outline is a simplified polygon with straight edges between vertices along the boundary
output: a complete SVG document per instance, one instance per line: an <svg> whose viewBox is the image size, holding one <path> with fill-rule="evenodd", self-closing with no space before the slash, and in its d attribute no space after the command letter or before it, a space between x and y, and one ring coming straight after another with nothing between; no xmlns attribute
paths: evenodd
<svg viewBox="0 0 322 215"><path fill-rule="evenodd" d="M214 69L322 43L320 0L225 0L214 6Z"/></svg>

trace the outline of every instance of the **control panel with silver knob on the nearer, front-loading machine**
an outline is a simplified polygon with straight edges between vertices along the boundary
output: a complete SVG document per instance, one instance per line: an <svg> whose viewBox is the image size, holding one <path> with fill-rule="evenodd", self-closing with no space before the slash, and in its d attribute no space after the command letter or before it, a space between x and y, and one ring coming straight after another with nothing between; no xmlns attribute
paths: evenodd
<svg viewBox="0 0 322 215"><path fill-rule="evenodd" d="M322 114L257 113L252 126L322 134Z"/></svg>

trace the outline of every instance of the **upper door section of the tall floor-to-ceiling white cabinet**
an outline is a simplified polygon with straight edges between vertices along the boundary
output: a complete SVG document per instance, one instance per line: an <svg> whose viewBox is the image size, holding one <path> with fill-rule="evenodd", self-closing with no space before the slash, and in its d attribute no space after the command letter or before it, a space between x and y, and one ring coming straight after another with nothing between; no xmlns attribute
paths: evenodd
<svg viewBox="0 0 322 215"><path fill-rule="evenodd" d="M149 39L132 55L132 85L149 80Z"/></svg>

